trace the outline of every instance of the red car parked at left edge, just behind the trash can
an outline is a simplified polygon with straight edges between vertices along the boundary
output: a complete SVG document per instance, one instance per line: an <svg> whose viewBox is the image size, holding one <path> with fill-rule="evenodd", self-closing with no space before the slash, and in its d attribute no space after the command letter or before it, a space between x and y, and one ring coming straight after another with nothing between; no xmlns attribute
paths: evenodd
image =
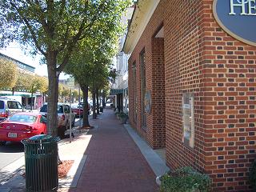
<svg viewBox="0 0 256 192"><path fill-rule="evenodd" d="M46 117L42 114L18 113L0 123L0 145L21 142L37 134L46 134Z"/></svg>

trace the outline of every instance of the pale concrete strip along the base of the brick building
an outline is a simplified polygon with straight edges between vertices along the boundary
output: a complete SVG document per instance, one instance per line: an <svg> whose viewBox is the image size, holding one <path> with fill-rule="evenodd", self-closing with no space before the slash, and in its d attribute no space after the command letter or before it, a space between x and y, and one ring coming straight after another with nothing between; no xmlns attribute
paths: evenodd
<svg viewBox="0 0 256 192"><path fill-rule="evenodd" d="M150 168L154 171L154 174L156 176L166 174L170 168L166 166L165 162L162 161L162 158L160 158L158 154L148 146L148 144L130 127L129 124L124 124L124 127L130 134L130 137L133 138L139 150L141 150L146 161L149 163Z"/></svg>

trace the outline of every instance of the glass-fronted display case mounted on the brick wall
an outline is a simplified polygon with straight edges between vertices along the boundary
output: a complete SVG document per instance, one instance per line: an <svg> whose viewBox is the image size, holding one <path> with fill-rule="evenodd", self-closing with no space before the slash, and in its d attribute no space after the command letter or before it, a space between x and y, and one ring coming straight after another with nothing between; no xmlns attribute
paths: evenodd
<svg viewBox="0 0 256 192"><path fill-rule="evenodd" d="M182 96L182 122L185 146L194 147L194 94L184 93Z"/></svg>

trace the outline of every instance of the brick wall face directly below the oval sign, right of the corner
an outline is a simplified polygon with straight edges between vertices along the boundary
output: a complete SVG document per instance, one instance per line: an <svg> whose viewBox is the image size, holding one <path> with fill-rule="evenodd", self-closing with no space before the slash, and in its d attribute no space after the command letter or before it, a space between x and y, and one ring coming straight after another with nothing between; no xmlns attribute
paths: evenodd
<svg viewBox="0 0 256 192"><path fill-rule="evenodd" d="M206 171L213 175L214 189L246 191L256 158L256 47L218 26L212 2L204 1L202 25Z"/></svg>

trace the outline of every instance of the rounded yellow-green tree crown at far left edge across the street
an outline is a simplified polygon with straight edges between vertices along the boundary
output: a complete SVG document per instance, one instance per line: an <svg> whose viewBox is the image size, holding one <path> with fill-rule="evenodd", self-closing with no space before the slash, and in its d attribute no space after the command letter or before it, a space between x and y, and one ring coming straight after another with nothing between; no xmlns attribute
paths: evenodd
<svg viewBox="0 0 256 192"><path fill-rule="evenodd" d="M17 82L18 69L14 62L0 58L0 89L12 88Z"/></svg>

